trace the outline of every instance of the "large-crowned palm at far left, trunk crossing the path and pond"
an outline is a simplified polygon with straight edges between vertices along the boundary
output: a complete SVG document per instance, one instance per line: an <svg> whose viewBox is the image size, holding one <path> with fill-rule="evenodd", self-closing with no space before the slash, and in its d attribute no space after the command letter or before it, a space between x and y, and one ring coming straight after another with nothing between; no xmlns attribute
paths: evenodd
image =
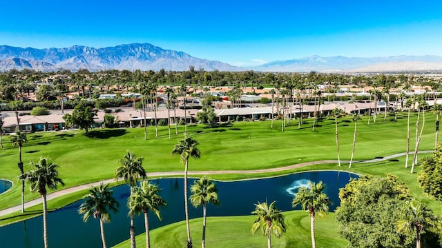
<svg viewBox="0 0 442 248"><path fill-rule="evenodd" d="M48 231L46 215L48 212L48 207L46 205L46 194L47 189L57 189L57 185L64 185L63 180L58 177L57 167L55 163L50 163L47 158L40 158L39 163L30 163L31 167L34 169L22 174L20 176L21 180L28 180L30 183L31 192L39 192L40 196L43 198L43 239L44 247L48 247Z"/></svg>

